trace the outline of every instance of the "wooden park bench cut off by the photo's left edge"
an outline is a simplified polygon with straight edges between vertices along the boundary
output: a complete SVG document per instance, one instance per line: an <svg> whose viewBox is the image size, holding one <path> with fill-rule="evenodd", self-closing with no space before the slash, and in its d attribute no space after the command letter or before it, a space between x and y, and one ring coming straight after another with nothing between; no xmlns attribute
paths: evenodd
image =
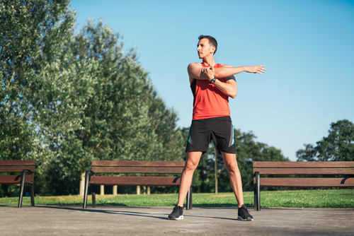
<svg viewBox="0 0 354 236"><path fill-rule="evenodd" d="M0 184L20 184L18 207L22 206L24 185L30 186L30 206L35 206L35 192L33 190L35 160L0 160L0 172L9 174L0 175ZM21 172L21 175L13 175L16 172Z"/></svg>

